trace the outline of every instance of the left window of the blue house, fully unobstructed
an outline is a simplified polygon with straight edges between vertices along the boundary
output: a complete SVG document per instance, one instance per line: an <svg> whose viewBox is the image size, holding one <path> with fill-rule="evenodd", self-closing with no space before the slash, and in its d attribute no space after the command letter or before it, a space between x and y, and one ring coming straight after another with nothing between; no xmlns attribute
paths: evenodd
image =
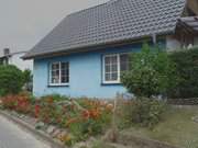
<svg viewBox="0 0 198 148"><path fill-rule="evenodd" d="M50 66L50 84L63 86L69 82L69 64L53 62Z"/></svg>

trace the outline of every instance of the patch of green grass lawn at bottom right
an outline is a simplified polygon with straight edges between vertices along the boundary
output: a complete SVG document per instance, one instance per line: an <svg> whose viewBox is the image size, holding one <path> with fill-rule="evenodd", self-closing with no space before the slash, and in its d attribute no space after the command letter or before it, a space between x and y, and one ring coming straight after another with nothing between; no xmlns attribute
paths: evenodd
<svg viewBox="0 0 198 148"><path fill-rule="evenodd" d="M194 116L198 116L198 107L168 109L163 121L154 129L132 127L130 134L178 147L198 148L198 123L191 119Z"/></svg>

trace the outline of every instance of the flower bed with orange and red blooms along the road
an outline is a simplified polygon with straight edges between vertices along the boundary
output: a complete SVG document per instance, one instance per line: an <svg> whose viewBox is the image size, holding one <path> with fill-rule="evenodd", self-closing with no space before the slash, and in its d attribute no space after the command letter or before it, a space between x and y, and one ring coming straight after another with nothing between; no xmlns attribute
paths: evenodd
<svg viewBox="0 0 198 148"><path fill-rule="evenodd" d="M36 100L26 93L4 96L1 104L6 110L35 121L36 128L45 128L66 145L103 134L111 123L113 110L113 105L106 101L59 95Z"/></svg>

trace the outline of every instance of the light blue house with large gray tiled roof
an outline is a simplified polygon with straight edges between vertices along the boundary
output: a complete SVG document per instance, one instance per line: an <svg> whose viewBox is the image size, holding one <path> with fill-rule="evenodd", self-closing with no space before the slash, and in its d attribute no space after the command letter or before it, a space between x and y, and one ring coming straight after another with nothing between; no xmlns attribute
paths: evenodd
<svg viewBox="0 0 198 148"><path fill-rule="evenodd" d="M113 98L142 43L172 50L196 44L197 0L110 0L68 15L23 58L34 59L35 95Z"/></svg>

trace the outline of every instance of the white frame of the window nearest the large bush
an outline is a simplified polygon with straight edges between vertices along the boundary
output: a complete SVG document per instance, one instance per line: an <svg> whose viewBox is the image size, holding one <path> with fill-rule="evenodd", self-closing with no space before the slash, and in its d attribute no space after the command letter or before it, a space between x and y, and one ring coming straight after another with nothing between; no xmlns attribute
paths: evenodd
<svg viewBox="0 0 198 148"><path fill-rule="evenodd" d="M107 81L106 80L106 58L107 57L112 57L112 56L117 56L117 65L118 65L118 79L117 80L114 80L114 81ZM102 82L103 83L120 83L120 73L121 73L121 71L120 71L120 54L109 54L109 55L103 55L102 56Z"/></svg>

